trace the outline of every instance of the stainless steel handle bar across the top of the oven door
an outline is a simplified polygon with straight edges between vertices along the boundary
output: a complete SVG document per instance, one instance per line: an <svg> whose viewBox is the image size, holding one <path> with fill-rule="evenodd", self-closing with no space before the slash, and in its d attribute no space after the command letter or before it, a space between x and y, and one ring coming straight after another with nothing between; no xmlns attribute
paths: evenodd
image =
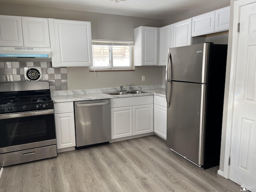
<svg viewBox="0 0 256 192"><path fill-rule="evenodd" d="M48 114L54 114L54 110L48 109L48 110L41 110L41 111L1 114L0 119L11 119L11 118L48 115Z"/></svg>

